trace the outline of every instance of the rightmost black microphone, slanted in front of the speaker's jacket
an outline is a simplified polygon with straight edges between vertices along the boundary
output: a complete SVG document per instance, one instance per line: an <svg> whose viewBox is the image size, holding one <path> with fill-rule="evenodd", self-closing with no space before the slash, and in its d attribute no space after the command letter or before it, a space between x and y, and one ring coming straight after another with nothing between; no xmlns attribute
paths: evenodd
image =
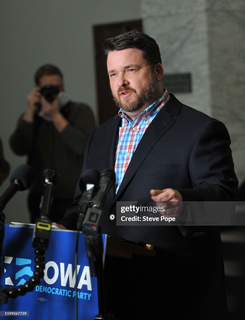
<svg viewBox="0 0 245 320"><path fill-rule="evenodd" d="M115 184L116 175L112 169L105 169L100 174L99 179L99 191L92 198L92 207L95 209L101 209L106 201L106 196L110 188Z"/></svg>

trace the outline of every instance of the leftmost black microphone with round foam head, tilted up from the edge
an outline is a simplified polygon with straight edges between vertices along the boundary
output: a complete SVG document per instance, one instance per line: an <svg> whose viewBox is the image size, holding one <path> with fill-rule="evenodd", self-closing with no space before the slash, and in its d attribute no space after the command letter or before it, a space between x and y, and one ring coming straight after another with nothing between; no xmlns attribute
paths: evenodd
<svg viewBox="0 0 245 320"><path fill-rule="evenodd" d="M20 164L9 176L11 185L0 197L0 212L5 208L7 202L20 190L28 189L34 181L35 171L29 164Z"/></svg>

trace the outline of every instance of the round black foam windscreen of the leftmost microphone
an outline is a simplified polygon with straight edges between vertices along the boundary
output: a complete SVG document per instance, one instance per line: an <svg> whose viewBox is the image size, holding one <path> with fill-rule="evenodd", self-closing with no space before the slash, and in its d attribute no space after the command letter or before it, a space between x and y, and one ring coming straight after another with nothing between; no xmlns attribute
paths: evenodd
<svg viewBox="0 0 245 320"><path fill-rule="evenodd" d="M35 171L29 164L20 164L9 176L9 182L18 180L20 183L20 191L26 190L34 181Z"/></svg>

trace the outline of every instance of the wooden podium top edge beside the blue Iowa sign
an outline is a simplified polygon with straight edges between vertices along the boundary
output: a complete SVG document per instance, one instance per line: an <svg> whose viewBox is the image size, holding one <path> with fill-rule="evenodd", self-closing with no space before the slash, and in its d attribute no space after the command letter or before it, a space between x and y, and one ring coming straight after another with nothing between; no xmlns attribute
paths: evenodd
<svg viewBox="0 0 245 320"><path fill-rule="evenodd" d="M117 239L111 236L107 236L106 239L106 255L113 257L121 257L130 259L133 254L154 257L156 252L153 250L153 246L134 244L124 239Z"/></svg>

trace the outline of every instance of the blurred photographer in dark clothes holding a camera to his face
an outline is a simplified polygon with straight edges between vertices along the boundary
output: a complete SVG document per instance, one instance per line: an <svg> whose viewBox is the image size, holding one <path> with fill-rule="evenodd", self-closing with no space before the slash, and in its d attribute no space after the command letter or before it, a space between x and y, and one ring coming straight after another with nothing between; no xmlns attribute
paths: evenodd
<svg viewBox="0 0 245 320"><path fill-rule="evenodd" d="M95 120L89 106L68 99L63 75L56 66L41 66L34 80L35 87L27 96L27 110L10 137L10 147L19 156L27 155L28 164L36 172L28 195L31 223L35 223L40 213L43 170L53 168L59 173L50 217L56 222L73 200Z"/></svg>

